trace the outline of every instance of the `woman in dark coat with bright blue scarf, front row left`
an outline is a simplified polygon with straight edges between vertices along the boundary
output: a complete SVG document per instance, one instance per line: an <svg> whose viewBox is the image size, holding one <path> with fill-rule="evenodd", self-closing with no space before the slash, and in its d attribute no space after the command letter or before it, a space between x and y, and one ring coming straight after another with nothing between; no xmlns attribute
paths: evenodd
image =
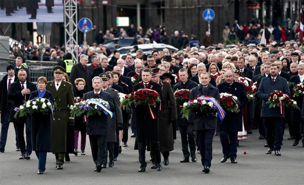
<svg viewBox="0 0 304 185"><path fill-rule="evenodd" d="M53 94L45 89L47 86L47 78L44 76L39 77L37 84L38 89L31 93L29 99L39 97L54 103ZM43 174L45 163L47 162L47 152L50 152L51 149L51 114L50 111L49 114L33 113L32 115L32 146L33 151L35 151L37 158L39 159L38 174Z"/></svg>

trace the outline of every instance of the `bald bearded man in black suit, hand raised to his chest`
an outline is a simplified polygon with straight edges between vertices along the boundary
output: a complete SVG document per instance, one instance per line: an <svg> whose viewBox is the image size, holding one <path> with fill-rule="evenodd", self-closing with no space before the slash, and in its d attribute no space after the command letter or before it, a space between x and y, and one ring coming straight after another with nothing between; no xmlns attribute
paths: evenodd
<svg viewBox="0 0 304 185"><path fill-rule="evenodd" d="M14 118L16 111L15 107L19 107L23 104L23 101L29 100L30 93L36 90L36 85L26 80L26 70L20 69L18 71L18 80L13 82L9 88L8 99L12 100L12 108L9 114L9 122L13 122L16 130L21 149L21 155L19 159L30 159L32 153L31 143L31 117L29 115L25 117ZM24 141L24 125L26 129L26 144Z"/></svg>

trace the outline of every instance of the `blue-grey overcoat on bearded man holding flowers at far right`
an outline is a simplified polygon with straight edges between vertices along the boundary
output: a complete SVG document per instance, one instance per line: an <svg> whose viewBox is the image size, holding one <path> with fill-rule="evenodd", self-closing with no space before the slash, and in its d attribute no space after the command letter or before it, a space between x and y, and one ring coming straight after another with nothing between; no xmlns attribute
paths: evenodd
<svg viewBox="0 0 304 185"><path fill-rule="evenodd" d="M269 95L274 90L279 90L290 96L290 90L288 87L287 80L277 76L275 82L272 84L271 75L268 75L266 78L262 78L261 84L259 86L257 96L263 100L261 117L284 117L279 111L279 107L269 108L269 104L266 104L268 101Z"/></svg>

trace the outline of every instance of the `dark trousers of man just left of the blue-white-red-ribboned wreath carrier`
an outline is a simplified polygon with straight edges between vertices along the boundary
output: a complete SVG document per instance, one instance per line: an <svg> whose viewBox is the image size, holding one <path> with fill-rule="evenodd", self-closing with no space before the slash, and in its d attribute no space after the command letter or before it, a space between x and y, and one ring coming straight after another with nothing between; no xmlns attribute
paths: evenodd
<svg viewBox="0 0 304 185"><path fill-rule="evenodd" d="M195 155L194 124L189 123L187 126L179 126L179 132L181 134L181 150L183 151L184 157L189 158L190 154ZM190 152L188 150L188 144Z"/></svg>

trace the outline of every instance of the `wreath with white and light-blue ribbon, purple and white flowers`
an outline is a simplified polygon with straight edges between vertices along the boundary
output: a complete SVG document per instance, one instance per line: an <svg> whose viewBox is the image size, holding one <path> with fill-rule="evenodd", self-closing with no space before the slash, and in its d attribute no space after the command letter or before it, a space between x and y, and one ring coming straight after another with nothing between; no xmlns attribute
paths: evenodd
<svg viewBox="0 0 304 185"><path fill-rule="evenodd" d="M76 117L80 117L81 114L91 116L94 114L101 115L102 113L106 115L109 113L113 117L113 113L108 110L109 108L109 102L99 98L87 99L70 106L71 114Z"/></svg>

